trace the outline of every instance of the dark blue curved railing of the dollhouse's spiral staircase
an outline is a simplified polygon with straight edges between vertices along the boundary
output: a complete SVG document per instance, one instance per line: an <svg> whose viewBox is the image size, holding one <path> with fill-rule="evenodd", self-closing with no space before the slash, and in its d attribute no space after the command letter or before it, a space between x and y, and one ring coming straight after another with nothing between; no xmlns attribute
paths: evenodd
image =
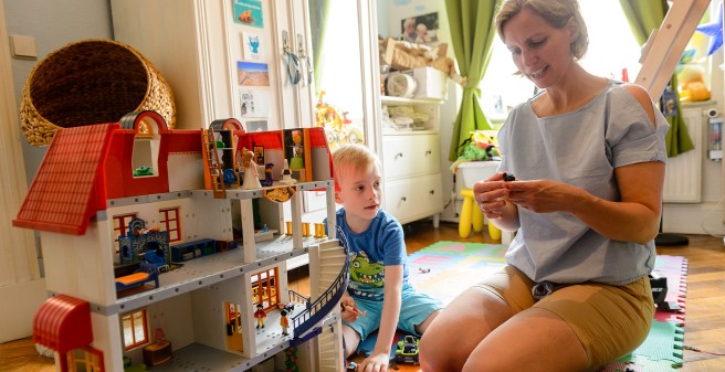
<svg viewBox="0 0 725 372"><path fill-rule="evenodd" d="M294 318L292 318L292 328L295 339L303 337L309 329L322 321L330 311L337 307L337 302L343 298L343 294L347 290L349 278L349 256L347 256L347 248L343 247L345 252L345 265L339 275L333 284L319 296L314 302L307 302L307 309ZM304 340L303 340L304 342Z"/></svg>

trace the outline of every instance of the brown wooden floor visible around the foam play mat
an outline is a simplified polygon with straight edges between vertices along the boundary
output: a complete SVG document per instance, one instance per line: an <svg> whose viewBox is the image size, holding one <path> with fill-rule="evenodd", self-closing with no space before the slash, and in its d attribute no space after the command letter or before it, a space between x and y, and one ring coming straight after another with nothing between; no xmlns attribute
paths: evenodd
<svg viewBox="0 0 725 372"><path fill-rule="evenodd" d="M458 225L441 223L431 228L430 222L418 223L406 230L408 253L413 253L438 241L495 243L485 234L461 238ZM684 256L689 262L685 318L686 346L703 352L684 351L683 372L725 372L725 247L722 237L689 235L690 245L658 247L658 254ZM290 273L290 288L309 293L304 270ZM713 355L706 352L719 353ZM356 359L359 361L359 359ZM40 357L30 338L0 344L0 372L55 371L53 360ZM411 365L399 365L399 372L419 371Z"/></svg>

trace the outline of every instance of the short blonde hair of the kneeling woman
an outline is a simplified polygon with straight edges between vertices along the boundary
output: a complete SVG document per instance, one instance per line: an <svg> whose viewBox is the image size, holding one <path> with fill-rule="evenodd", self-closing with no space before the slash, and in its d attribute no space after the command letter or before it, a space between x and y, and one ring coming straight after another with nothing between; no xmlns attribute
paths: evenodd
<svg viewBox="0 0 725 372"><path fill-rule="evenodd" d="M496 15L496 31L501 40L504 40L506 22L525 8L542 17L546 23L556 29L565 28L569 19L574 19L579 35L571 42L571 54L576 60L580 60L587 53L589 34L577 0L505 0Z"/></svg>

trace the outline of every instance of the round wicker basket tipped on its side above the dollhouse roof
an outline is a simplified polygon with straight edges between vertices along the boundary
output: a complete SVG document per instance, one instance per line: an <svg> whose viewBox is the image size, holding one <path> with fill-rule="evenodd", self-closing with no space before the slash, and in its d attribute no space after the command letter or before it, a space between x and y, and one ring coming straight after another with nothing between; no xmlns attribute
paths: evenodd
<svg viewBox="0 0 725 372"><path fill-rule="evenodd" d="M147 109L174 128L174 94L159 71L127 44L84 40L49 54L30 72L20 120L28 141L44 146L57 128L118 123Z"/></svg>

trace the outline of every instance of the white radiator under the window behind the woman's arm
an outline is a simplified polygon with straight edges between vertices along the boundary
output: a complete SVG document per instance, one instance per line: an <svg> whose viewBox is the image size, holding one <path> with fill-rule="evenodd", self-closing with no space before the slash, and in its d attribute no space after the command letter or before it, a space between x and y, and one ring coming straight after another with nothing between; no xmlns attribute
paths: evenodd
<svg viewBox="0 0 725 372"><path fill-rule="evenodd" d="M668 159L662 195L665 203L700 203L701 201L703 138L707 124L705 113L712 107L713 104L710 102L682 105L682 117L695 148Z"/></svg>

